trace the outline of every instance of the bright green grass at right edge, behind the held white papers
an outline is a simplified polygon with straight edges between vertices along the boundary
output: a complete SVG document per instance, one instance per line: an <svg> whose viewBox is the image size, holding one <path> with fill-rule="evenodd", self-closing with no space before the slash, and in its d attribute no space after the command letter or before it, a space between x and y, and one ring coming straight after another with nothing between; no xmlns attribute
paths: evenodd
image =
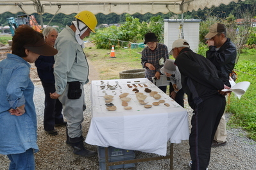
<svg viewBox="0 0 256 170"><path fill-rule="evenodd" d="M228 125L231 127L242 127L248 132L248 137L256 141L256 62L255 49L244 49L235 69L237 81L249 81L250 87L239 100L231 95L228 111L233 113Z"/></svg>

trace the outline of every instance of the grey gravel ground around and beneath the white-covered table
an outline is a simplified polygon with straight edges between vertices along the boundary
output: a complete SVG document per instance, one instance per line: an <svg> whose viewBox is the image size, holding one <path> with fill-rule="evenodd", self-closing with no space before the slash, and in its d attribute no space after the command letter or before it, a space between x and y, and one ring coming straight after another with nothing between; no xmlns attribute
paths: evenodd
<svg viewBox="0 0 256 170"><path fill-rule="evenodd" d="M84 112L83 136L86 137L91 119L90 84L85 85L85 97L87 109ZM73 155L71 146L65 144L65 127L57 127L58 135L45 134L42 125L44 111L44 91L40 84L35 85L34 102L38 121L38 146L40 151L35 154L37 169L99 169L98 157L83 158ZM192 115L191 108L186 105L189 114L189 122ZM226 114L228 120L230 114ZM168 152L169 154L169 143ZM97 146L85 143L90 150L97 150ZM151 153L135 151L135 158L157 156ZM182 141L174 144L173 169L189 169L187 164L190 160L189 143ZM8 169L9 160L6 155L0 155L0 169ZM135 167L127 169L169 169L169 160L154 160L139 162ZM248 139L246 133L237 128L228 128L228 143L226 146L212 148L210 157L210 169L256 169L256 142Z"/></svg>

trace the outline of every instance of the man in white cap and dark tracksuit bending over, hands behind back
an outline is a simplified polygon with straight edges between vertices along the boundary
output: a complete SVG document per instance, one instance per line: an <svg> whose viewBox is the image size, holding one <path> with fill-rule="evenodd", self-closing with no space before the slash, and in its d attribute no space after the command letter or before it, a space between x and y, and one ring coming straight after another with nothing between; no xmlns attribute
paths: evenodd
<svg viewBox="0 0 256 170"><path fill-rule="evenodd" d="M176 59L182 75L182 87L188 102L194 110L189 136L191 169L207 169L210 160L210 146L225 110L226 93L224 75L218 72L209 59L192 52L186 40L173 43L171 54Z"/></svg>

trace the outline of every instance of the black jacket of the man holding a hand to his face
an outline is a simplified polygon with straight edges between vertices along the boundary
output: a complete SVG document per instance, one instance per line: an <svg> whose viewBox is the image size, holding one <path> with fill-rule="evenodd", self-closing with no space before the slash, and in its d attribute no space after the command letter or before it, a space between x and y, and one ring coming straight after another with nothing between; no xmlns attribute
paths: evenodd
<svg viewBox="0 0 256 170"><path fill-rule="evenodd" d="M235 58L237 56L237 49L230 41L230 38L226 38L226 42L216 50L215 46L209 46L209 50L206 52L206 58L209 59L217 68L221 71L226 79L229 79L229 75L234 69ZM230 83L225 84L230 87Z"/></svg>

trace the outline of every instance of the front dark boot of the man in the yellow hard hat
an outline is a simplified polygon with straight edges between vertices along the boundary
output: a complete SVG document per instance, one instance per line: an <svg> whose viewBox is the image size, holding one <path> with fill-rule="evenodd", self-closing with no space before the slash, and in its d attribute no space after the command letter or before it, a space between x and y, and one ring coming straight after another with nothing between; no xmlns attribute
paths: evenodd
<svg viewBox="0 0 256 170"><path fill-rule="evenodd" d="M90 151L85 149L83 146L83 136L69 138L71 142L71 146L74 148L73 153L76 155L80 155L81 157L92 157L97 154L96 151Z"/></svg>

